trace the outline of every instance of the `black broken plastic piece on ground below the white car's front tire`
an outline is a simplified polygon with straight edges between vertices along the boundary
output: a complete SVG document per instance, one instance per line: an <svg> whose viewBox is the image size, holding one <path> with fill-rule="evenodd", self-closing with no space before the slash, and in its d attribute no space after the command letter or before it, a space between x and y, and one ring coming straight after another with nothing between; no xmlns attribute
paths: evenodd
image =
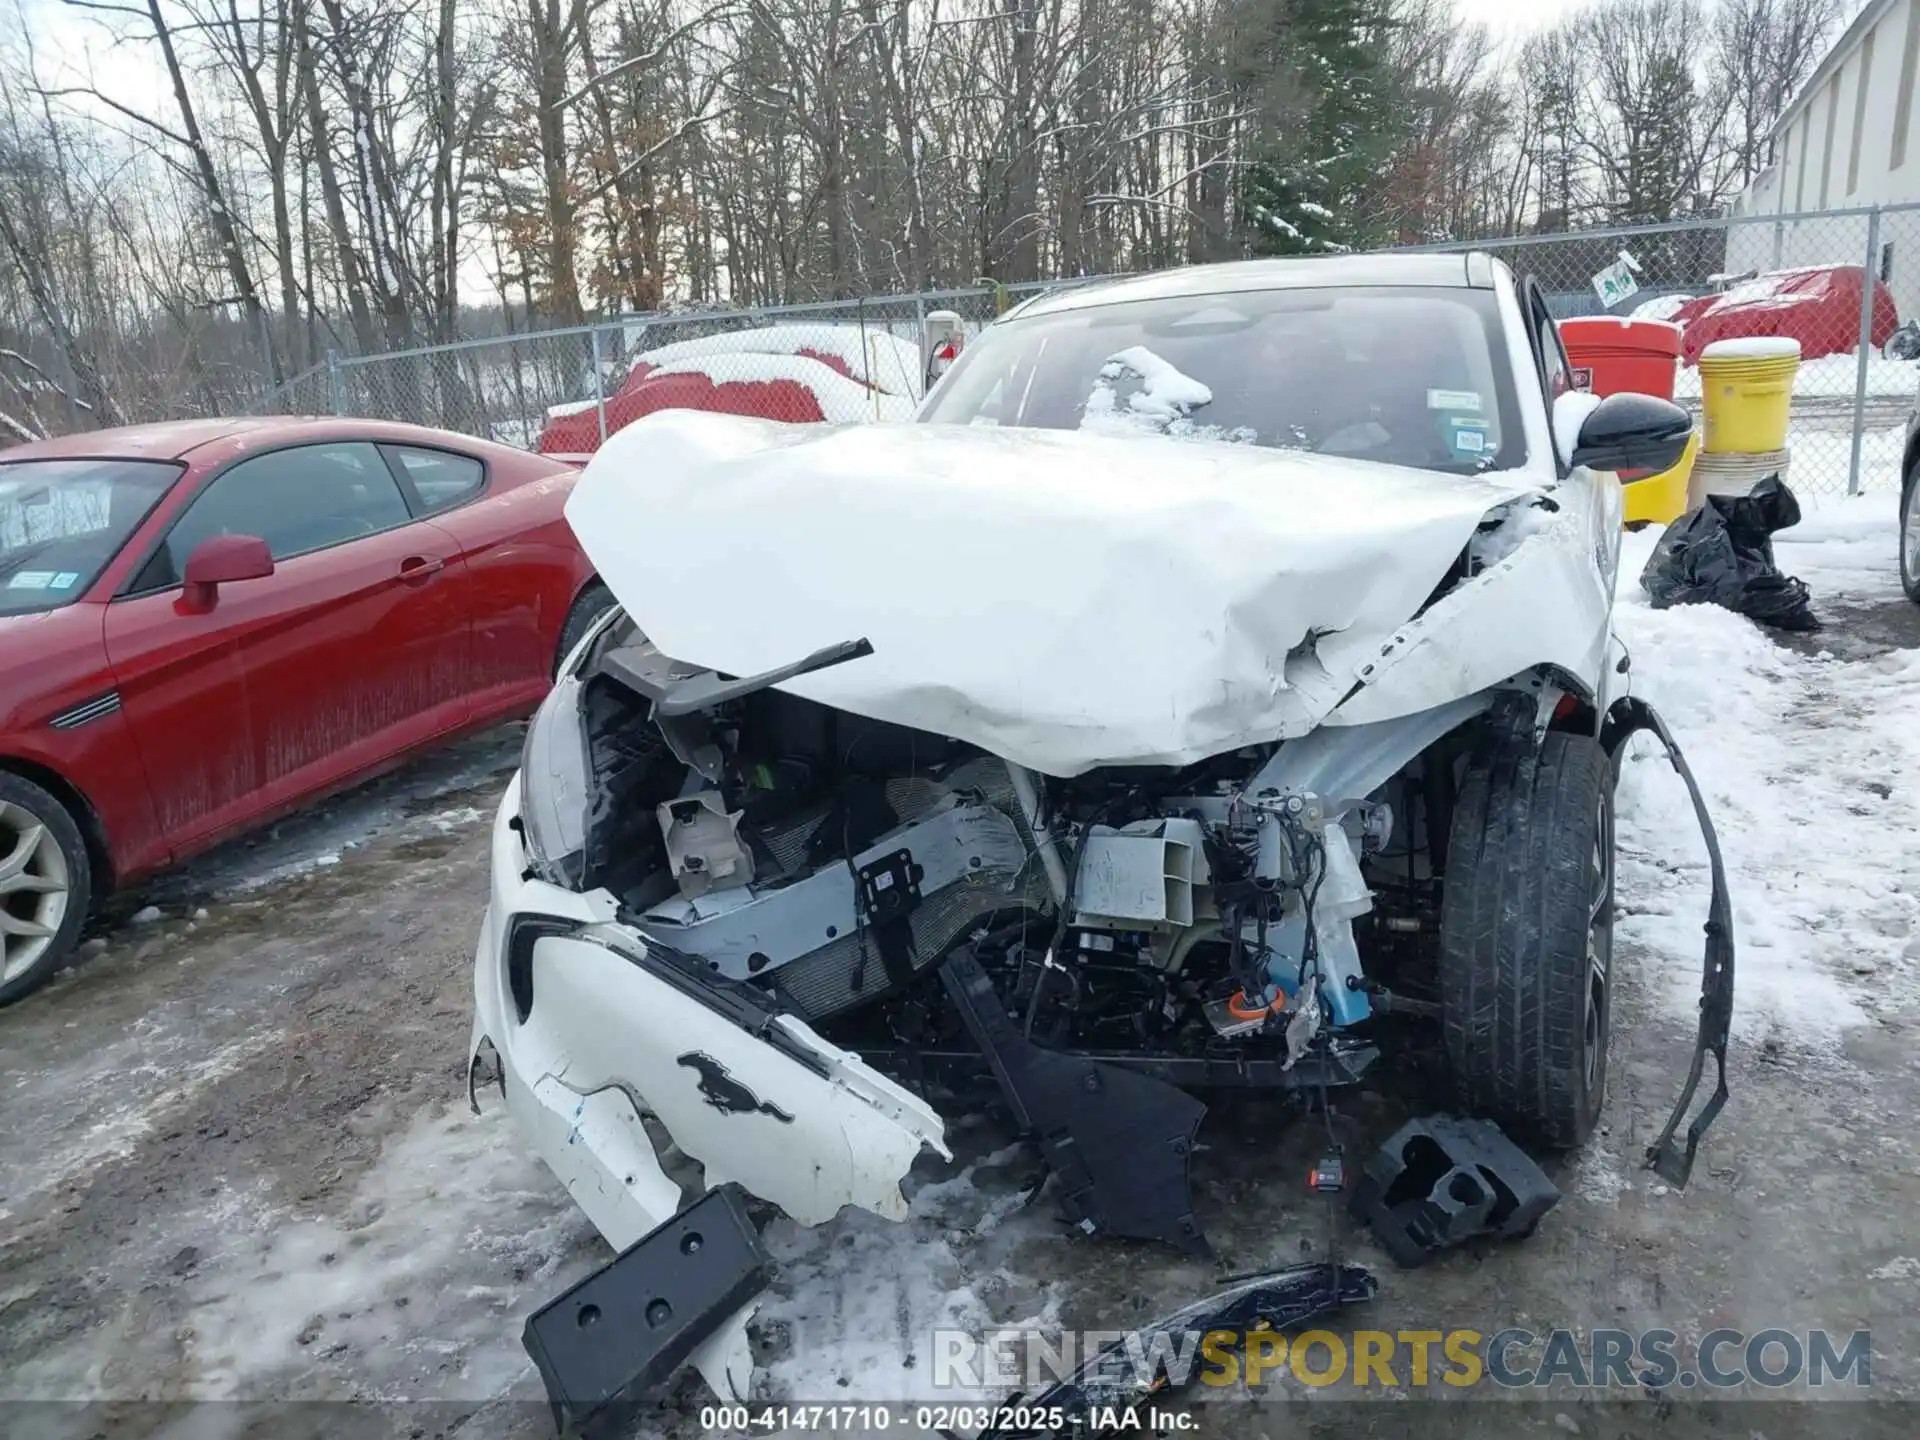
<svg viewBox="0 0 1920 1440"><path fill-rule="evenodd" d="M1354 1217L1413 1269L1461 1240L1517 1240L1559 1188L1490 1119L1409 1119L1354 1187Z"/></svg>

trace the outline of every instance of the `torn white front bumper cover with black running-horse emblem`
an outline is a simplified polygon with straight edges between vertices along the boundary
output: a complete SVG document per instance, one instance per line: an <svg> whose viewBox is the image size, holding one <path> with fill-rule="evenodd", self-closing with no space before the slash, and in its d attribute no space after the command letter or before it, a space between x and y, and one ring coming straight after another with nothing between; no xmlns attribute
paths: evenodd
<svg viewBox="0 0 1920 1440"><path fill-rule="evenodd" d="M636 1246L649 1254L662 1227L707 1204L687 1208L693 1196L668 1177L649 1125L701 1165L708 1196L733 1183L801 1225L845 1206L902 1219L900 1181L914 1158L948 1154L941 1116L760 991L649 947L618 924L612 897L532 877L518 824L515 780L495 816L492 899L474 950L468 1091L478 1098L482 1081L497 1085L515 1129L620 1252L603 1275L641 1267L628 1260ZM716 1284L693 1302L655 1296L676 1315L684 1304L703 1315L668 1329L722 1400L751 1386L753 1294ZM735 1306L718 1313L724 1298ZM666 1354L616 1348L609 1365L632 1363L641 1377Z"/></svg>

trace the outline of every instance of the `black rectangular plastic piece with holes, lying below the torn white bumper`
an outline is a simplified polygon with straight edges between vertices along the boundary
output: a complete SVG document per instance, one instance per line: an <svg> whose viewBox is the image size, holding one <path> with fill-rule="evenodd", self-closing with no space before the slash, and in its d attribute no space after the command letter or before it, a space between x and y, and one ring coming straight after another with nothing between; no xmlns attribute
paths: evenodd
<svg viewBox="0 0 1920 1440"><path fill-rule="evenodd" d="M745 1190L708 1190L580 1284L534 1311L522 1344L561 1434L647 1400L758 1296L772 1261Z"/></svg>

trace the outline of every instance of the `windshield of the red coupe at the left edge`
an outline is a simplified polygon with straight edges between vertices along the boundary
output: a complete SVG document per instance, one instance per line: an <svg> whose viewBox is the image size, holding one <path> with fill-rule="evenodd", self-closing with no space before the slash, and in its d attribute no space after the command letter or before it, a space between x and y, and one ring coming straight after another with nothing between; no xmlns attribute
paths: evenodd
<svg viewBox="0 0 1920 1440"><path fill-rule="evenodd" d="M182 468L169 461L0 463L0 614L79 599Z"/></svg>

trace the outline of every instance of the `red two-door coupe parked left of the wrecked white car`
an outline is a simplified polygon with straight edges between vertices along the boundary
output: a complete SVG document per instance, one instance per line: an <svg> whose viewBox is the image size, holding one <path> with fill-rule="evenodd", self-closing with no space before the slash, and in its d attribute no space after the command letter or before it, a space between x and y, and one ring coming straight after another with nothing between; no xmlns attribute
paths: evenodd
<svg viewBox="0 0 1920 1440"><path fill-rule="evenodd" d="M532 710L611 603L574 476L371 420L0 451L0 1004L109 889Z"/></svg>

